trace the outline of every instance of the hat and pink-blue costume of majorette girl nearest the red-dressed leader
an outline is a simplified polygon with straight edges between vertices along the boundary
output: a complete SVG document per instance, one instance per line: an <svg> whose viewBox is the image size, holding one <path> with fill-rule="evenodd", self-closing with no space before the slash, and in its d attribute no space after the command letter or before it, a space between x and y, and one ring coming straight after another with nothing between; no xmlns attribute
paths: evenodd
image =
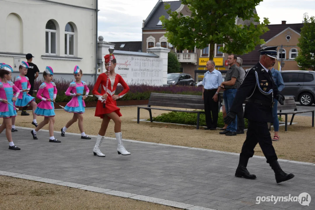
<svg viewBox="0 0 315 210"><path fill-rule="evenodd" d="M74 74L78 74L80 72L79 66L74 67ZM72 99L67 103L64 110L70 113L82 114L85 112L85 103L82 99L83 92L85 90L85 95L89 95L89 88L86 85L86 82L81 82L78 84L77 82L71 82L69 88L66 91L67 96L72 96ZM72 93L71 93L72 92ZM76 93L82 94L80 96L76 96Z"/></svg>

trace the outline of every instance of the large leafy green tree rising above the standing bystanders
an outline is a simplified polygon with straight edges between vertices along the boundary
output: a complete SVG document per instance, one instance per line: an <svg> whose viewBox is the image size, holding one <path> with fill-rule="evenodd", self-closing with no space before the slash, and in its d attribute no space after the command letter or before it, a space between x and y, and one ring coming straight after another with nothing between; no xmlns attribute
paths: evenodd
<svg viewBox="0 0 315 210"><path fill-rule="evenodd" d="M161 16L163 27L168 31L168 41L180 49L203 49L210 44L209 58L214 57L214 46L225 44L220 51L225 53L245 54L255 49L258 44L265 43L260 36L268 31L268 19L259 23L254 14L255 6L262 0L182 0L191 14L184 16L171 11L166 4L169 19ZM235 20L250 20L250 24L236 25ZM255 25L253 22L257 22Z"/></svg>

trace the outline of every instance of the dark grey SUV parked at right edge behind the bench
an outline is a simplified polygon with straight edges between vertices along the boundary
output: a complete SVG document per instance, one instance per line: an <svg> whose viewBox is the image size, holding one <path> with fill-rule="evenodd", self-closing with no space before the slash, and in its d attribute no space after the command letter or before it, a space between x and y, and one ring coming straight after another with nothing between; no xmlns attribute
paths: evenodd
<svg viewBox="0 0 315 210"><path fill-rule="evenodd" d="M310 106L315 99L314 71L281 71L284 95L292 95L303 106Z"/></svg>

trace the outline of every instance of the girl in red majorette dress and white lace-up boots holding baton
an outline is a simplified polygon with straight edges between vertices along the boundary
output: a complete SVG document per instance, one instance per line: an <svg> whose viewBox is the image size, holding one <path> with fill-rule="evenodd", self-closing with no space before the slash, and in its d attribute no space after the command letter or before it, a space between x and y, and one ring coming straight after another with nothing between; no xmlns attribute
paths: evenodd
<svg viewBox="0 0 315 210"><path fill-rule="evenodd" d="M97 81L93 88L93 94L98 97L95 116L98 116L103 119L100 131L97 135L96 144L93 149L94 155L105 157L105 155L100 151L100 145L105 138L106 129L108 127L109 121L112 119L115 122L115 136L117 139L117 152L118 155L130 155L131 153L128 152L124 145L123 145L123 138L121 133L121 120L120 116L120 109L117 107L116 100L123 97L128 91L129 86L123 80L123 78L115 73L116 67L116 59L115 56L106 55L105 58L105 67L106 69L110 68L109 75L106 73L102 73L98 76ZM109 77L109 78L107 78ZM106 93L106 81L108 79L108 89ZM117 84L120 83L123 86L123 91L118 95L115 95L115 91L117 88ZM98 92L99 87L101 86L101 93Z"/></svg>

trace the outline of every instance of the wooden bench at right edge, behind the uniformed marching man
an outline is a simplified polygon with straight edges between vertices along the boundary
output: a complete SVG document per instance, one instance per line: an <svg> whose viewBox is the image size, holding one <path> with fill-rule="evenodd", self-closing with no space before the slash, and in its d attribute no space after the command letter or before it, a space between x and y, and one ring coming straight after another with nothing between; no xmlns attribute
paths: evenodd
<svg viewBox="0 0 315 210"><path fill-rule="evenodd" d="M292 125L294 116L296 114L301 114L301 113L306 113L306 112L312 112L312 127L314 127L314 110L301 110L301 111L298 111L293 96L285 96L284 98L285 98L284 105L281 105L278 102L277 110L280 111L278 113L278 115L280 115L280 116L284 115L285 116L285 131L288 130L288 115L292 115L292 118L291 118L291 121L290 121L290 125ZM283 110L291 110L291 109L294 109L294 111L284 111L283 112Z"/></svg>

